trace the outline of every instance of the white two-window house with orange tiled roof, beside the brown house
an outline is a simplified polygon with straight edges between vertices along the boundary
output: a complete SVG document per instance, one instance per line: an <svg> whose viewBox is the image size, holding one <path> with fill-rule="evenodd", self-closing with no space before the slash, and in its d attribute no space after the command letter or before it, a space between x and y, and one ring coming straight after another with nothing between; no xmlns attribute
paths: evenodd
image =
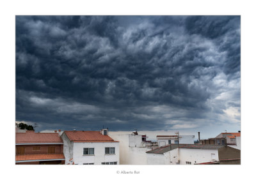
<svg viewBox="0 0 256 180"><path fill-rule="evenodd" d="M118 165L119 142L99 131L64 131L65 164Z"/></svg>

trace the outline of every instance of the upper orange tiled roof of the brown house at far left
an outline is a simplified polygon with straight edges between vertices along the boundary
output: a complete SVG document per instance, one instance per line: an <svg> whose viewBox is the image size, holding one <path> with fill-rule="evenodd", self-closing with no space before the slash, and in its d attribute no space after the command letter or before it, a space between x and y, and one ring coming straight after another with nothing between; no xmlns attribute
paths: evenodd
<svg viewBox="0 0 256 180"><path fill-rule="evenodd" d="M16 144L24 143L63 143L58 133L35 133L26 131L26 133L16 133Z"/></svg>

